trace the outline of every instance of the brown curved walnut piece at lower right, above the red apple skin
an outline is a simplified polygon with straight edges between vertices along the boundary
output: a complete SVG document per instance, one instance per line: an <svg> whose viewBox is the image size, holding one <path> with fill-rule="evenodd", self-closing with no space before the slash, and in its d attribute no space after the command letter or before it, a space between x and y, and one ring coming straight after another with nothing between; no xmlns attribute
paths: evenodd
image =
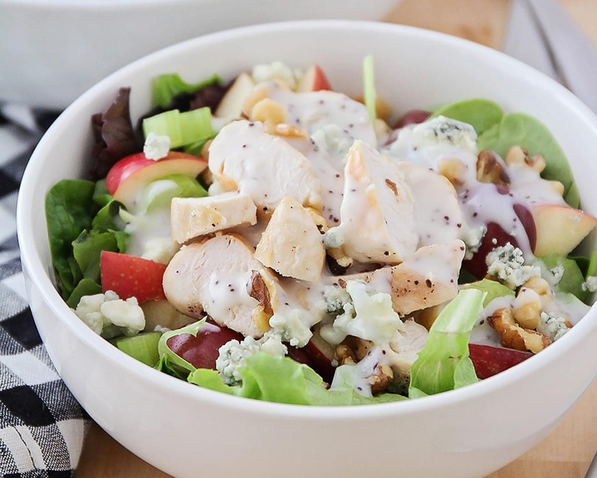
<svg viewBox="0 0 597 478"><path fill-rule="evenodd" d="M487 321L500 334L500 343L504 347L522 351L529 350L536 354L552 343L546 335L534 330L523 329L516 324L509 308L496 310L487 318Z"/></svg>

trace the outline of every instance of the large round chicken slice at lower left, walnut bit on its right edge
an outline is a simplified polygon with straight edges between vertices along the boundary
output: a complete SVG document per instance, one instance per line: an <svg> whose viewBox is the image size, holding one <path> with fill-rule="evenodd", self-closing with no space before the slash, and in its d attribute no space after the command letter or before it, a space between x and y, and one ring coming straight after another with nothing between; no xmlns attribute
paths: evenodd
<svg viewBox="0 0 597 478"><path fill-rule="evenodd" d="M269 330L278 284L235 235L183 246L164 272L164 293L189 317L210 315L221 326L259 338Z"/></svg>

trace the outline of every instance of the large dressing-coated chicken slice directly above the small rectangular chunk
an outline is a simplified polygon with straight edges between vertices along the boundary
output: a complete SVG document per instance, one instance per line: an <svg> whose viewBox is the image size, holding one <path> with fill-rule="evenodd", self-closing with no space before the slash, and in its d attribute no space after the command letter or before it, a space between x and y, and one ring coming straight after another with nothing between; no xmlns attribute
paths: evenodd
<svg viewBox="0 0 597 478"><path fill-rule="evenodd" d="M309 160L260 122L223 127L211 143L209 167L224 191L248 194L260 212L275 209L284 196L321 207L321 183Z"/></svg>

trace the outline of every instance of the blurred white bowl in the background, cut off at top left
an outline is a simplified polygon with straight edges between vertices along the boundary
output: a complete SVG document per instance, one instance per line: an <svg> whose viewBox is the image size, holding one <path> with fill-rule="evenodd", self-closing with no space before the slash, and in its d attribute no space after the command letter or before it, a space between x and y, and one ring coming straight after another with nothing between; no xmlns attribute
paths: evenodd
<svg viewBox="0 0 597 478"><path fill-rule="evenodd" d="M397 0L0 0L0 101L62 109L158 48L281 20L378 20Z"/></svg>

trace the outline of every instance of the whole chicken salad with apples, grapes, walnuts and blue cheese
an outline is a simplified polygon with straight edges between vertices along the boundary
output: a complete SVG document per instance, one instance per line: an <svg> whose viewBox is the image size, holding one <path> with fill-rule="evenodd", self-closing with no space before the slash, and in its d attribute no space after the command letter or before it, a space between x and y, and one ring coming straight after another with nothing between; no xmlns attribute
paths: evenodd
<svg viewBox="0 0 597 478"><path fill-rule="evenodd" d="M91 180L46 198L61 296L148 366L298 405L413 399L540 353L589 310L597 225L537 119L408 112L318 65L153 79L94 115Z"/></svg>

